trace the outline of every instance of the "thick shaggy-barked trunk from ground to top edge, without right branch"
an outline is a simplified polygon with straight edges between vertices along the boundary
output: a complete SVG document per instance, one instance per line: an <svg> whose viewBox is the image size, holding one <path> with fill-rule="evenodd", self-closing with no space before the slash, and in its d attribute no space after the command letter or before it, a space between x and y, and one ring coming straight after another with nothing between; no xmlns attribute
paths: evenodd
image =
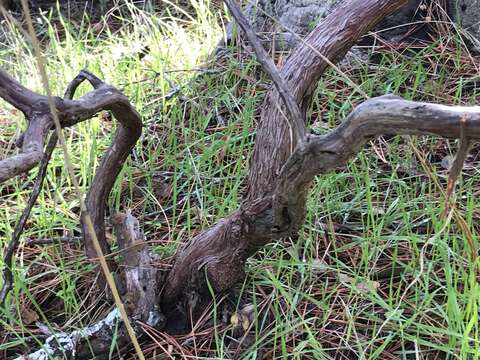
<svg viewBox="0 0 480 360"><path fill-rule="evenodd" d="M280 75L305 111L328 62L337 62L369 29L406 0L352 0L340 5L295 48ZM320 55L319 55L320 54ZM272 87L261 111L250 160L247 194L240 206L213 228L193 238L177 254L163 292L163 307L199 313L211 296L206 277L217 291L230 289L243 276L245 261L266 243L292 235L302 226L311 177L295 190L295 203L274 209L282 166L297 146L295 131L285 119L278 91ZM277 204L278 205L278 204ZM176 314L175 316L178 316Z"/></svg>

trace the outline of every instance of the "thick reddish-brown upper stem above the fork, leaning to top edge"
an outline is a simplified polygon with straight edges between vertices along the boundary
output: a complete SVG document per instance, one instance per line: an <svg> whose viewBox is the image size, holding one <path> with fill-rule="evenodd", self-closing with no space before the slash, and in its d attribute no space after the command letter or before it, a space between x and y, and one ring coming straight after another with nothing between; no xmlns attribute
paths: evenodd
<svg viewBox="0 0 480 360"><path fill-rule="evenodd" d="M308 107L318 80L328 68L325 58L333 63L341 60L361 36L406 3L407 0L341 2L297 45L285 61L281 75L302 111ZM279 102L278 92L272 89L261 107L244 199L247 203L273 191L280 169L297 145L278 108Z"/></svg>

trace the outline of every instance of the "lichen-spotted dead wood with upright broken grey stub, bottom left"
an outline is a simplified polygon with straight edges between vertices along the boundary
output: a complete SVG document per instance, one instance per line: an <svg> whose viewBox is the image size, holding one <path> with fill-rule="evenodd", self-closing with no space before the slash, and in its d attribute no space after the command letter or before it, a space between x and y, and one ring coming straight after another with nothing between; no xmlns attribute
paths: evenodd
<svg viewBox="0 0 480 360"><path fill-rule="evenodd" d="M112 217L117 241L122 253L121 266L126 285L123 296L129 318L134 324L137 336L142 334L142 324L161 329L165 317L160 312L157 283L157 269L154 256L148 251L145 236L138 220L129 212ZM115 346L129 345L130 338L118 309L112 310L104 319L70 333L58 332L49 336L41 350L18 357L21 359L46 359L65 357L69 359L109 358L109 351Z"/></svg>

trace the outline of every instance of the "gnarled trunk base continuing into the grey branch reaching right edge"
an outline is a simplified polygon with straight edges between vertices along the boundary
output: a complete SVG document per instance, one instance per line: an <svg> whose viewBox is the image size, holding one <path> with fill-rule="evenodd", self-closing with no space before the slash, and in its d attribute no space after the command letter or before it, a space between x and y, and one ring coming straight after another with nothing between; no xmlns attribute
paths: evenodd
<svg viewBox="0 0 480 360"><path fill-rule="evenodd" d="M193 316L198 315L209 295L201 290L207 288L204 274L215 291L228 290L242 276L245 260L258 248L297 233L313 178L344 165L372 138L385 134L459 138L462 126L467 140L480 140L480 107L445 106L387 95L357 106L331 133L307 136L285 163L271 195L244 202L238 211L183 247L167 279L164 310L174 311L180 303L193 309Z"/></svg>

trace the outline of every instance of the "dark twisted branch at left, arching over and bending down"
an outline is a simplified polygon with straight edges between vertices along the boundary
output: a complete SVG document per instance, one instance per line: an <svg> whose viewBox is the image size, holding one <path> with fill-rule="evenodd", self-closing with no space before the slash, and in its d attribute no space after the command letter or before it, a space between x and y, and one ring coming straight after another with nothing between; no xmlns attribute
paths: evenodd
<svg viewBox="0 0 480 360"><path fill-rule="evenodd" d="M94 90L72 100L75 90L84 80L88 80ZM0 161L2 182L38 164L42 157L43 140L52 127L52 119L47 97L26 89L3 70L0 70L0 97L21 110L29 121L22 139L23 152ZM55 97L54 102L62 127L88 120L103 110L111 111L119 122L112 144L97 169L86 198L87 209L102 251L108 254L110 248L105 236L105 204L122 165L141 135L141 117L125 95L86 70L82 70L69 84L65 98ZM96 251L86 231L84 216L81 217L81 221L87 257L95 259Z"/></svg>

